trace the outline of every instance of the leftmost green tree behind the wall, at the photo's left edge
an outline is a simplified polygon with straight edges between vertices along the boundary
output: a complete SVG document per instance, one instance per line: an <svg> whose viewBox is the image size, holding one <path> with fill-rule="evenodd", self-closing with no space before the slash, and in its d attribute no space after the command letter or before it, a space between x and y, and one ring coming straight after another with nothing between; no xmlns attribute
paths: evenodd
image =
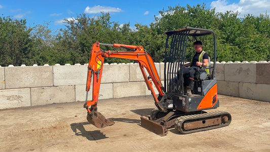
<svg viewBox="0 0 270 152"><path fill-rule="evenodd" d="M29 64L31 28L26 27L26 20L0 17L0 27L0 65Z"/></svg>

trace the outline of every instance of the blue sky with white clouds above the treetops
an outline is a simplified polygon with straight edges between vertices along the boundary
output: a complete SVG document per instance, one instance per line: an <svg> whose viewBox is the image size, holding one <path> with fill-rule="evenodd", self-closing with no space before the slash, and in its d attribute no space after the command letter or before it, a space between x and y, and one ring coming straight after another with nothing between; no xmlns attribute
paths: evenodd
<svg viewBox="0 0 270 152"><path fill-rule="evenodd" d="M111 1L111 0L92 0L92 1L69 1L69 0L47 0L47 1L2 1L0 0L0 16L11 16L14 19L26 19L27 26L33 27L36 24L50 23L53 30L64 28L63 19L76 18L77 15L86 13L90 17L100 15L99 12L109 12L111 21L119 24L130 22L130 26L136 23L149 25L154 21L154 16L159 15L159 11L168 10L168 7L180 5L185 7L196 6L205 3L207 8L216 8L216 12L227 10L239 11L241 16L253 14L258 16L260 13L269 14L269 0L155 0L155 1ZM267 10L268 9L268 10Z"/></svg>

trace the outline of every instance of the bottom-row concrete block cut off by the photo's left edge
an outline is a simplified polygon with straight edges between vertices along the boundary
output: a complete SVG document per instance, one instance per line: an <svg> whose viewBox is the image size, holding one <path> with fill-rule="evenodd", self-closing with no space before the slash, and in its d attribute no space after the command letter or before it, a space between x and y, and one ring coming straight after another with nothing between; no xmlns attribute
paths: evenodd
<svg viewBox="0 0 270 152"><path fill-rule="evenodd" d="M0 109L31 106L30 88L0 90Z"/></svg>

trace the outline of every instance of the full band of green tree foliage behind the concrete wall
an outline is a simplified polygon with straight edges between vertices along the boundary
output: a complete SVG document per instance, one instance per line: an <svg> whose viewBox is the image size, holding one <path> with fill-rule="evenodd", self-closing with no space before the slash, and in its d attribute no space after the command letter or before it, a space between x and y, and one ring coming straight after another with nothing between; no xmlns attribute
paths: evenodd
<svg viewBox="0 0 270 152"><path fill-rule="evenodd" d="M162 62L165 51L166 31L190 26L211 29L217 37L217 61L270 60L270 19L267 13L260 16L238 17L238 12L216 13L205 4L181 7L169 6L159 12L147 25L118 24L110 21L109 13L89 17L80 14L65 20L66 27L59 31L49 29L50 23L27 27L26 20L0 17L0 65L54 65L59 63L88 63L92 44L119 43L143 46L155 62ZM211 50L212 37L200 37L204 50ZM194 53L192 41L187 46L187 56ZM102 46L103 50L115 50ZM121 49L116 49L123 51ZM213 53L209 51L209 55ZM125 59L106 58L107 63L133 62Z"/></svg>

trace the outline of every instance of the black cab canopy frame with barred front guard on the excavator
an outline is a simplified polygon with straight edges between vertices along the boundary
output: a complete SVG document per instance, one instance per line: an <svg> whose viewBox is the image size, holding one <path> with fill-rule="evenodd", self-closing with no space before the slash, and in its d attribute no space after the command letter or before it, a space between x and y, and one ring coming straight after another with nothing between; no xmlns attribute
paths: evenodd
<svg viewBox="0 0 270 152"><path fill-rule="evenodd" d="M211 61L213 61L214 63L213 66L211 66L210 63L209 67L207 67L210 71L210 73L207 75L207 79L212 80L214 78L216 62L216 35L214 31L210 29L182 27L175 30L167 31L166 34L167 39L164 59L164 87L166 89L166 92L173 94L182 94L184 92L184 80L182 72L184 68L183 65L185 61L187 61L187 42L191 37L193 37L195 41L197 41L198 37L212 35L213 49L206 50L206 52L213 52L213 57L211 58Z"/></svg>

